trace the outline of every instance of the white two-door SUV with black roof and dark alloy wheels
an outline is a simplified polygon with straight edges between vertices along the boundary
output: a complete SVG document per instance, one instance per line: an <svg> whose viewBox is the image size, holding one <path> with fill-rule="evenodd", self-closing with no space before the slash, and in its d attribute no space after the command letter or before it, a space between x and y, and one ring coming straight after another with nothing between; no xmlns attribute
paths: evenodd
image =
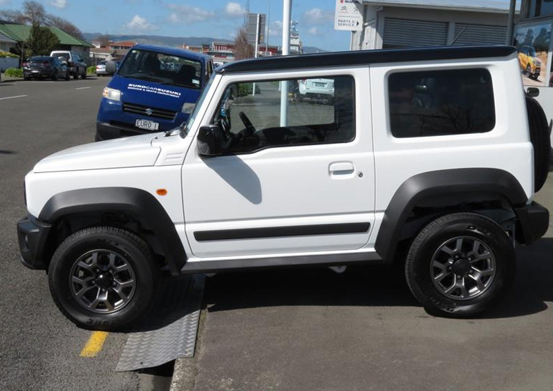
<svg viewBox="0 0 553 391"><path fill-rule="evenodd" d="M287 84L310 79L332 82L329 102L289 102ZM180 128L41 160L24 264L95 329L143 314L163 267L401 262L429 312L474 316L511 285L515 243L549 221L532 201L547 123L520 80L510 47L227 64Z"/></svg>

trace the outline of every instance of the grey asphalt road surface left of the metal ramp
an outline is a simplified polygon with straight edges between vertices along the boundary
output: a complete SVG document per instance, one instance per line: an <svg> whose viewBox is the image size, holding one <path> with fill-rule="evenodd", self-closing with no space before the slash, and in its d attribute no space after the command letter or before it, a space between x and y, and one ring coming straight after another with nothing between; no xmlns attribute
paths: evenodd
<svg viewBox="0 0 553 391"><path fill-rule="evenodd" d="M46 155L94 140L107 81L0 84L0 390L140 390L138 374L113 372L124 334L79 356L92 333L62 316L44 271L19 263L15 229L26 215L24 176Z"/></svg>

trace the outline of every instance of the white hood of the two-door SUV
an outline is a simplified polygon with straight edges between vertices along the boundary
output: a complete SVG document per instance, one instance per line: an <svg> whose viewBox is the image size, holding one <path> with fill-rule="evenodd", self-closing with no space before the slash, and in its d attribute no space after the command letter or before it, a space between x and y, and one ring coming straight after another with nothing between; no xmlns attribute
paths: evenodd
<svg viewBox="0 0 553 391"><path fill-rule="evenodd" d="M44 158L35 165L33 171L47 173L153 166L160 147L152 146L151 140L157 135L139 135L73 146Z"/></svg>

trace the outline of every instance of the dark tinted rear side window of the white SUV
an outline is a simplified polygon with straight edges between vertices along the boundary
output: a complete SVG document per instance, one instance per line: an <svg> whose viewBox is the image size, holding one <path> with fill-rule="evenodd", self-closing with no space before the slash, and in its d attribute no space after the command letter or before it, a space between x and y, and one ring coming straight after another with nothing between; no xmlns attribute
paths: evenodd
<svg viewBox="0 0 553 391"><path fill-rule="evenodd" d="M393 73L388 99L393 137L485 133L496 126L486 69Z"/></svg>

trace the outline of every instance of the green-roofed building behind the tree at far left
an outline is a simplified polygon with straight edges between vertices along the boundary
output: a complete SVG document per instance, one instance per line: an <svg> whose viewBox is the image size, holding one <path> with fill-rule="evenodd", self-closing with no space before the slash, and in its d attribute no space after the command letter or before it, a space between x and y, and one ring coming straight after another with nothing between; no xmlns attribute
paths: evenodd
<svg viewBox="0 0 553 391"><path fill-rule="evenodd" d="M68 34L61 28L47 26L51 32L59 39L59 46L57 50L73 50L76 53L79 53L84 59L88 58L88 53L93 47L87 41L74 37L71 34ZM16 44L12 46L15 48L17 45L24 45L30 37L31 26L26 24L18 23L0 23L0 35L6 36L12 41L15 41Z"/></svg>

